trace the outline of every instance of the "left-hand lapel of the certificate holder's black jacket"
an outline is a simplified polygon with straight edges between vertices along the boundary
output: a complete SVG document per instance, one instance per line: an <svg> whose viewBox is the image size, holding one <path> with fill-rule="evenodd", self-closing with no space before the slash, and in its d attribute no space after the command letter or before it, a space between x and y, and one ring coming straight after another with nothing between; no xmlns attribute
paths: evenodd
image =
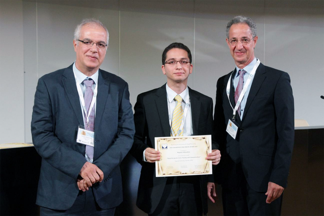
<svg viewBox="0 0 324 216"><path fill-rule="evenodd" d="M170 136L170 124L169 124L169 114L168 114L168 98L167 98L167 90L165 85L162 85L156 91L156 108L160 118L161 127L164 136Z"/></svg>

